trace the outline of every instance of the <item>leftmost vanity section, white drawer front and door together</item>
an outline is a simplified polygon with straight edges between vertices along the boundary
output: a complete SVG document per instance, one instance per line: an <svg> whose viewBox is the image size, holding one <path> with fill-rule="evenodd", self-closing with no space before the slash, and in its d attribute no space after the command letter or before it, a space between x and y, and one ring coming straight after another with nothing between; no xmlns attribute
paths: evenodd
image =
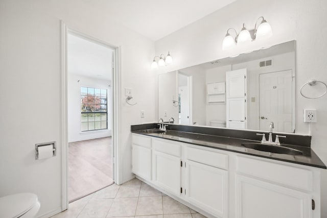
<svg viewBox="0 0 327 218"><path fill-rule="evenodd" d="M132 141L132 172L144 179L151 180L152 137L132 134Z"/></svg>

